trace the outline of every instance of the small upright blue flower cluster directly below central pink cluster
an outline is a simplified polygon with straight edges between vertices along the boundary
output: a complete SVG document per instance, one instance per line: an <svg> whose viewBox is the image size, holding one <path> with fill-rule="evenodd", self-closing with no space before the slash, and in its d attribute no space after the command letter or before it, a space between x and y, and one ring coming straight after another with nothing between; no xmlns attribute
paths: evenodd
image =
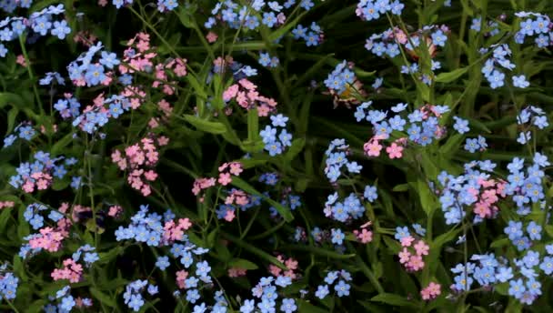
<svg viewBox="0 0 553 313"><path fill-rule="evenodd" d="M265 126L265 129L259 132L263 143L264 149L269 153L271 157L275 157L284 152L287 146L292 146L292 134L287 132L285 128L287 126L288 117L278 114L271 116L271 125ZM281 127L280 133L278 133L278 127Z"/></svg>

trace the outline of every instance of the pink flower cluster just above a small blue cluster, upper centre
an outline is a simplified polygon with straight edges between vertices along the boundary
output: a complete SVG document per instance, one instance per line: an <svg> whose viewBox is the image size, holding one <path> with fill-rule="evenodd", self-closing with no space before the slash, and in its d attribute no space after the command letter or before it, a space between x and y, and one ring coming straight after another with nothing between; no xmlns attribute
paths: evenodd
<svg viewBox="0 0 553 313"><path fill-rule="evenodd" d="M268 116L269 112L275 109L277 101L273 98L260 96L257 86L246 78L240 79L238 84L226 88L223 93L223 100L229 102L235 100L239 106L246 109L257 108L258 116Z"/></svg>

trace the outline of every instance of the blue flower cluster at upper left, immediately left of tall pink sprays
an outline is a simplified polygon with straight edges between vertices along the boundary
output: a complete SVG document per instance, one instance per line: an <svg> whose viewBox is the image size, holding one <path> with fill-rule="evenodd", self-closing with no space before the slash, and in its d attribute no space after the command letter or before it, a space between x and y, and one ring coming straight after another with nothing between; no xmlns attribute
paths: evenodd
<svg viewBox="0 0 553 313"><path fill-rule="evenodd" d="M90 45L88 51L78 56L75 61L69 63L69 78L73 81L84 81L86 86L102 84L107 78L106 70L109 71L120 64L115 53L103 51L103 48L102 42L98 41L96 45ZM98 52L101 52L101 57L93 61Z"/></svg>

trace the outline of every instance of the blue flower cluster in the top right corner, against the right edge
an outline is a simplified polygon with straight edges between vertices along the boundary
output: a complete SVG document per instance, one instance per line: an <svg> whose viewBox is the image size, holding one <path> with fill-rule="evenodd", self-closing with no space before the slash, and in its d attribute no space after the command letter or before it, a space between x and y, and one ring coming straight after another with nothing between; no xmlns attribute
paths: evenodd
<svg viewBox="0 0 553 313"><path fill-rule="evenodd" d="M550 44L549 26L551 20L548 15L542 15L534 12L518 12L515 15L521 18L520 30L515 34L515 42L524 44L527 36L534 37L534 42L538 47L543 48Z"/></svg>

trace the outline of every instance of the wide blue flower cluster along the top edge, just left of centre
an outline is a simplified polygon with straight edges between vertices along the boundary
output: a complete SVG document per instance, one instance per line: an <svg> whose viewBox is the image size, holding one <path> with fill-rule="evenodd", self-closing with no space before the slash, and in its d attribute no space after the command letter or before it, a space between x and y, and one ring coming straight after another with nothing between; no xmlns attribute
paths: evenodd
<svg viewBox="0 0 553 313"><path fill-rule="evenodd" d="M232 0L226 0L215 5L211 10L212 16L207 19L204 26L211 29L219 21L232 29L242 26L249 30L258 30L261 24L273 28L285 23L284 11L293 5L296 5L296 0L286 0L282 5L277 1L266 2L264 0L254 0L248 5L241 5ZM311 9L314 5L312 0L300 0L299 2L299 6L305 10Z"/></svg>

